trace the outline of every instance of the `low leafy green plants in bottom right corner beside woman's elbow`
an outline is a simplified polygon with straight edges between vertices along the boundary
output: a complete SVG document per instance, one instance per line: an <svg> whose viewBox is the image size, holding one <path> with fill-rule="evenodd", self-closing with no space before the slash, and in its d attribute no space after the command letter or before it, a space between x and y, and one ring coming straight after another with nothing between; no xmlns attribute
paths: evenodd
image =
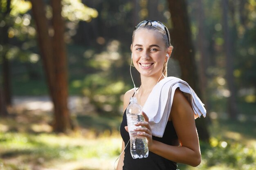
<svg viewBox="0 0 256 170"><path fill-rule="evenodd" d="M179 164L179 169L193 170L254 170L256 148L245 146L238 141L212 137L210 145L200 142L202 161L197 168Z"/></svg>

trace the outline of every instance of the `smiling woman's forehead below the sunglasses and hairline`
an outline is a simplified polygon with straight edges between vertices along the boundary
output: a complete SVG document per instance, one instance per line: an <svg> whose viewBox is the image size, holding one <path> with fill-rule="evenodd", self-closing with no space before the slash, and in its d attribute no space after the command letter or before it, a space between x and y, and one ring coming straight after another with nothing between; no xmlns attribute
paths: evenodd
<svg viewBox="0 0 256 170"><path fill-rule="evenodd" d="M141 28L137 30L133 37L133 44L158 44L158 45L164 45L164 40L157 30L150 30L150 29L144 29Z"/></svg>

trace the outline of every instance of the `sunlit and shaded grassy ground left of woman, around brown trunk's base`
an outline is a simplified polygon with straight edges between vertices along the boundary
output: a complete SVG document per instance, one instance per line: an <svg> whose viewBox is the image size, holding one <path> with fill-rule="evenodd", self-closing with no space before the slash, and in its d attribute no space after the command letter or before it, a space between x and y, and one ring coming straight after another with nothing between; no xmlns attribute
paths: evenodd
<svg viewBox="0 0 256 170"><path fill-rule="evenodd" d="M24 111L0 118L0 170L113 167L121 151L120 117L79 115L74 132L55 134L49 126L51 116L51 113Z"/></svg>

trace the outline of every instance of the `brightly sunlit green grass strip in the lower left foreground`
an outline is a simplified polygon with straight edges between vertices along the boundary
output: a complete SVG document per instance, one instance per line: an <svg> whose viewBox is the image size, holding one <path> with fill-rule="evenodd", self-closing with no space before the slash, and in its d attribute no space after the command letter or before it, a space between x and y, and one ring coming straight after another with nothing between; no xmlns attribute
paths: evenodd
<svg viewBox="0 0 256 170"><path fill-rule="evenodd" d="M13 168L15 166L18 169L19 166L26 165L29 165L26 170L31 170L35 165L58 169L62 163L67 162L102 158L112 160L118 156L121 149L121 140L117 136L87 139L81 135L78 137L7 132L0 133L0 139L0 162L3 170L15 169ZM8 160L15 161L10 163ZM77 168L86 168L86 166L80 164Z"/></svg>

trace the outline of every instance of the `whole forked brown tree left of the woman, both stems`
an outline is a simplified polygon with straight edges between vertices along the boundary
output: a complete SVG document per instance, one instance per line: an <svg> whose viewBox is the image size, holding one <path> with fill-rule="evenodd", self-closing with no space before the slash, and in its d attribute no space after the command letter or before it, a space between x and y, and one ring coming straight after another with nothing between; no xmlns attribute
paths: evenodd
<svg viewBox="0 0 256 170"><path fill-rule="evenodd" d="M31 3L45 75L54 104L53 127L57 132L66 132L72 128L72 123L67 108L67 63L61 0L52 0L53 37L49 36L50 25L45 16L43 0L31 0Z"/></svg>

